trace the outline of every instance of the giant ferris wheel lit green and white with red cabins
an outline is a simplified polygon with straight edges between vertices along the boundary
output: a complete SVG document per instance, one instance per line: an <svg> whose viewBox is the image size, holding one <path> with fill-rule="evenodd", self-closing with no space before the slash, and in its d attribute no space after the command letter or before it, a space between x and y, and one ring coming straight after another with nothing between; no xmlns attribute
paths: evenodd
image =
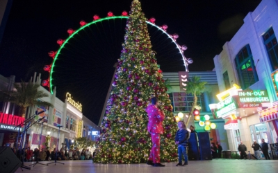
<svg viewBox="0 0 278 173"><path fill-rule="evenodd" d="M57 61L58 60L62 60L62 59L66 59L67 56L72 56L74 54L78 54L76 52L80 53L80 50L83 50L83 48L79 48L79 51L75 51L74 52L74 48L72 47L72 42L78 42L80 41L81 35L87 35L87 36L83 36L83 37L99 37L99 35L97 36L92 36L92 34L90 34L91 32L93 33L94 31L92 30L92 26L95 27L95 30L99 30L99 27L97 26L97 24L104 24L104 22L110 22L115 24L116 20L126 20L128 19L128 13L126 11L122 12L122 15L120 16L115 16L113 15L113 12L108 12L107 17L104 18L100 18L98 15L94 15L93 16L93 21L91 21L90 23L87 23L85 21L80 21L80 28L77 30L74 30L72 28L67 30L67 33L69 34L69 37L67 37L67 39L58 39L57 40L57 44L60 46L58 48L58 51L50 51L48 53L49 57L53 58L53 61L51 64L49 65L45 65L44 66L44 71L48 71L49 72L49 78L47 80L43 80L42 81L42 86L48 86L49 87L49 91L51 91L51 93L53 93L54 90L54 80L55 80L55 73L58 73L57 68ZM183 51L187 50L187 46L186 45L179 45L177 43L177 39L179 38L179 35L177 35L176 33L170 35L169 33L167 33L167 28L168 26L166 24L163 24L163 26L157 26L155 24L156 19L154 17L152 17L151 19L149 19L148 21L145 21L147 23L148 28L155 28L155 32L157 33L158 31L160 32L160 34L158 35L163 35L163 37L166 37L166 39L170 40L170 44L173 44L174 46L172 46L172 48L176 49L177 54L179 54L180 60L183 62L185 71L188 71L188 65L193 63L193 60L191 58L186 58L186 56L184 55ZM108 28L111 27L110 23L108 24ZM109 33L109 31L108 31ZM110 33L113 33L113 31L110 30ZM117 35L117 33L113 33L114 35ZM106 35L107 36L107 35ZM101 36L103 37L103 36ZM151 35L151 39L152 39L152 35ZM88 42L88 41L87 41ZM169 41L167 41L169 42ZM161 43L161 42L160 42ZM167 43L169 44L169 43ZM85 45L85 44L84 44ZM90 45L90 44L89 44ZM88 46L88 45L86 45ZM94 48L91 48L94 49ZM67 53L67 56L65 56L63 52L68 51L69 53ZM95 50L96 51L96 50ZM156 51L156 50L154 50ZM84 54L84 53L83 53ZM79 55L76 55L76 57L78 58ZM65 60L64 60L65 61ZM74 66L73 66L74 68Z"/></svg>

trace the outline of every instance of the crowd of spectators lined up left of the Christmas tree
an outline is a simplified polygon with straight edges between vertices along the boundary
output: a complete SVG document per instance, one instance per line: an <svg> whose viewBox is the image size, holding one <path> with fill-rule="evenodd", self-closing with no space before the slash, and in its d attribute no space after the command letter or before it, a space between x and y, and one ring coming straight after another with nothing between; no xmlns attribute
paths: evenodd
<svg viewBox="0 0 278 173"><path fill-rule="evenodd" d="M15 151L15 149L12 148L13 153L17 154L20 158L22 158L22 154L19 154L19 151ZM76 149L70 149L67 151L67 149L63 149L63 147L60 150L57 150L57 153L55 152L56 148L54 148L52 151L49 149L39 149L35 148L30 149L30 147L27 147L24 152L24 161L26 162L32 162L32 161L54 161L55 158L57 161L67 161L67 160L92 160L93 155L95 155L95 152L93 154L89 151L89 149L82 149L82 151L79 150L79 148ZM22 152L23 153L23 152ZM21 156L22 155L22 156Z"/></svg>

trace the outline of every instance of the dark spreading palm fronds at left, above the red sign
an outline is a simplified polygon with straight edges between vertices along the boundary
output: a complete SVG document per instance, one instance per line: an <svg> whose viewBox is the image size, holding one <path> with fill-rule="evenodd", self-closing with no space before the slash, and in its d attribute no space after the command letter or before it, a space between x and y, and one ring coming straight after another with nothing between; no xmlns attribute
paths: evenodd
<svg viewBox="0 0 278 173"><path fill-rule="evenodd" d="M40 84L33 84L31 81L28 83L22 81L20 84L14 84L13 91L0 91L0 101L13 102L17 104L19 115L25 117L27 107L35 105L44 107L53 107L50 102L44 102L40 98L47 97L48 94L39 90Z"/></svg>

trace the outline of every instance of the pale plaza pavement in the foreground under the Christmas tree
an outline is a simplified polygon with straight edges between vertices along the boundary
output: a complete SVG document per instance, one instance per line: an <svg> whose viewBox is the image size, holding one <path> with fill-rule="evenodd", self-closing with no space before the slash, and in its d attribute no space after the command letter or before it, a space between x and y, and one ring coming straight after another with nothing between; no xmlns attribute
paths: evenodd
<svg viewBox="0 0 278 173"><path fill-rule="evenodd" d="M50 163L50 162L41 162ZM278 172L278 160L256 161L256 160L234 160L215 159L213 161L189 161L187 167L176 167L177 163L165 163L166 167L152 167L146 164L98 164L92 161L62 161L65 165L56 163L48 166L35 165L31 170L24 169L25 173L176 173L176 172L204 172L204 173L256 173L256 172ZM31 163L25 163L31 165ZM16 173L22 172L20 168Z"/></svg>

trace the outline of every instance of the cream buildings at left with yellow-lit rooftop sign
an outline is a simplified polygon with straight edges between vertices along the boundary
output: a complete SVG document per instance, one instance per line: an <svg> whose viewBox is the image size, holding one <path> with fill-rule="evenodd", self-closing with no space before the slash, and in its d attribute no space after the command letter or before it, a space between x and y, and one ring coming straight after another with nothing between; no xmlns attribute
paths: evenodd
<svg viewBox="0 0 278 173"><path fill-rule="evenodd" d="M40 84L40 75L37 76L35 73L31 82ZM14 83L15 76L5 78L0 75L1 91L13 90ZM18 128L14 129L13 127L16 127L19 122L24 122L28 118L32 118L32 126L28 128L26 133L26 147L31 147L31 149L38 148L39 145L40 148L45 148L45 143L48 144L50 150L56 148L57 145L58 149L65 146L70 148L74 138L88 136L88 131L99 131L97 125L83 116L82 105L72 100L70 93L65 95L65 102L63 102L56 98L56 89L54 89L53 94L42 86L39 89L48 94L48 97L41 98L41 101L50 102L54 107L29 107L26 111L26 117L22 118L17 115L18 107L15 104L1 102L0 146L6 145L13 147L18 132ZM12 121L16 119L17 124L12 123L12 121L9 122L9 116L12 118ZM42 118L43 120L40 120ZM22 127L21 131L23 129L24 127ZM87 130L86 133L84 133L83 129ZM90 135L89 139L94 140L95 138Z"/></svg>

